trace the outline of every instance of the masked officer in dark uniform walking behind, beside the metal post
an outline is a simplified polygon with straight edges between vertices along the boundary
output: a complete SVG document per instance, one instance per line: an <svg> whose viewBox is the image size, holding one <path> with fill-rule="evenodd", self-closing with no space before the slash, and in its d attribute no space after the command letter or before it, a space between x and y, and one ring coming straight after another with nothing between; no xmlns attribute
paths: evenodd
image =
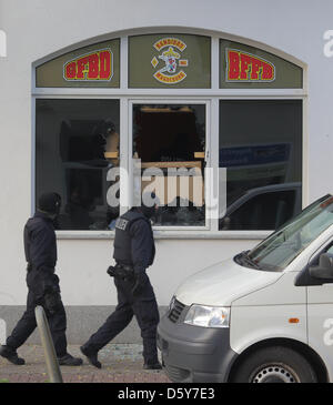
<svg viewBox="0 0 333 405"><path fill-rule="evenodd" d="M38 211L24 226L24 252L28 262L27 311L0 346L0 355L9 362L22 365L17 348L31 335L37 326L34 308L42 305L50 325L57 357L60 365L79 366L81 358L67 352L65 312L60 296L59 277L54 274L57 263L57 241L54 221L60 211L61 198L57 193L44 193L39 199Z"/></svg>

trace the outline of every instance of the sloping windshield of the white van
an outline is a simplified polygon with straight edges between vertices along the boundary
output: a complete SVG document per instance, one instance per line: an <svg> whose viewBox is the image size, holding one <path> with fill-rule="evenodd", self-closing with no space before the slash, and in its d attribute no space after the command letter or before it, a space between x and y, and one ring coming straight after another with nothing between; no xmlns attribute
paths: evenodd
<svg viewBox="0 0 333 405"><path fill-rule="evenodd" d="M263 271L282 271L332 224L333 196L325 195L282 225L252 251L244 252L246 261L242 262Z"/></svg>

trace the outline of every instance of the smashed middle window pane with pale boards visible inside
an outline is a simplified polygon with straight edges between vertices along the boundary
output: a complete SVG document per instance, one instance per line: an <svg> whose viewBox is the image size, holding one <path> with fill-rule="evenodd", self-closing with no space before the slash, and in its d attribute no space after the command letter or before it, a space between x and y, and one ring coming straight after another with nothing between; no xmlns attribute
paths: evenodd
<svg viewBox="0 0 333 405"><path fill-rule="evenodd" d="M133 158L141 160L139 192L158 196L155 225L205 225L205 104L135 104Z"/></svg>

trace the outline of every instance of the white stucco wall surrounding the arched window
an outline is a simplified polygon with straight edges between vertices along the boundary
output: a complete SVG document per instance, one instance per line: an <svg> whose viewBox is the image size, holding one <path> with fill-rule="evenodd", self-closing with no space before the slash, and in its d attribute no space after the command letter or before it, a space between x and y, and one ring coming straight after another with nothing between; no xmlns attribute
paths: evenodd
<svg viewBox="0 0 333 405"><path fill-rule="evenodd" d="M333 58L323 34L333 29L331 0L0 0L0 305L23 305L26 284L22 229L31 212L31 64L58 50L110 32L145 27L193 27L263 42L307 64L305 131L309 201L332 190ZM306 112L305 112L306 113ZM158 241L150 272L160 304L167 305L179 277L255 241ZM105 267L105 240L61 240L59 273L71 305L115 303ZM111 291L111 293L110 293Z"/></svg>

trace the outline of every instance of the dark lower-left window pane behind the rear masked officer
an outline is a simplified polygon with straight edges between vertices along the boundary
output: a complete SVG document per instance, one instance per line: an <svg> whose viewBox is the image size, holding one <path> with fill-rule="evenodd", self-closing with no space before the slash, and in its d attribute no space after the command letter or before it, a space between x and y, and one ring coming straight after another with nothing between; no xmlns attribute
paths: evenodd
<svg viewBox="0 0 333 405"><path fill-rule="evenodd" d="M119 166L118 100L36 102L36 201L47 191L62 198L60 230L109 230L119 214L107 181Z"/></svg>

